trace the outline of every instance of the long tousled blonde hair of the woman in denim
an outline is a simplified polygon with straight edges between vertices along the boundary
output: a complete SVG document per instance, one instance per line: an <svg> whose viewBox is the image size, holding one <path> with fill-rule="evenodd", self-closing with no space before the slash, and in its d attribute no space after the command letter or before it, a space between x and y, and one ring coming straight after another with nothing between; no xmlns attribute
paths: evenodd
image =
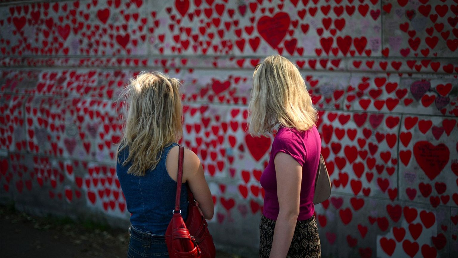
<svg viewBox="0 0 458 258"><path fill-rule="evenodd" d="M148 169L156 168L158 154L181 138L180 86L178 79L164 73L142 72L121 93L127 117L118 153L129 149L129 156L122 163L125 166L132 162L127 174L143 176Z"/></svg>

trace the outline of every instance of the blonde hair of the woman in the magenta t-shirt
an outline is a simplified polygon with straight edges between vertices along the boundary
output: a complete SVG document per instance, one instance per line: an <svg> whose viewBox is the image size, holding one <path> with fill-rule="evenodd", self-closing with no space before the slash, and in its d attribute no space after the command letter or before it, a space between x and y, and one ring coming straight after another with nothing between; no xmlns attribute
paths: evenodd
<svg viewBox="0 0 458 258"><path fill-rule="evenodd" d="M278 55L256 67L249 113L251 135L267 135L276 125L305 131L318 119L298 68Z"/></svg>

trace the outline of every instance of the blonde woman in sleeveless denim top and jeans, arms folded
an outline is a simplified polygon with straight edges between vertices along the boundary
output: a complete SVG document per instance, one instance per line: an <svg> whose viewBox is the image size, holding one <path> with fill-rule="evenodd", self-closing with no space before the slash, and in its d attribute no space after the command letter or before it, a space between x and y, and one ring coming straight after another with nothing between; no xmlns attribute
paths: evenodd
<svg viewBox="0 0 458 258"><path fill-rule="evenodd" d="M177 141L182 135L180 81L159 72L140 73L123 94L126 108L116 174L131 213L127 257L169 257L165 230L172 218L178 171ZM202 164L185 149L180 209L188 215L189 185L205 219L213 217L213 200Z"/></svg>

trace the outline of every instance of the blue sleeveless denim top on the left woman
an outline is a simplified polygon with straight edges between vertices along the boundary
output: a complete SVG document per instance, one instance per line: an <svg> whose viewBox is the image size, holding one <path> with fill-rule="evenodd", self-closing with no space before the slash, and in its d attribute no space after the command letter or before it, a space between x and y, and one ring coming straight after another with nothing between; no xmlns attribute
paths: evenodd
<svg viewBox="0 0 458 258"><path fill-rule="evenodd" d="M177 183L170 178L165 167L167 154L177 143L164 148L159 163L154 169L148 169L144 176L127 174L131 163L122 166L129 155L128 147L118 153L116 174L125 196L127 210L132 213L131 224L153 235L165 235L165 230L172 219L175 209ZM178 159L176 161L178 163ZM178 171L171 171L178 173ZM185 184L181 185L180 209L183 219L188 216L188 191Z"/></svg>

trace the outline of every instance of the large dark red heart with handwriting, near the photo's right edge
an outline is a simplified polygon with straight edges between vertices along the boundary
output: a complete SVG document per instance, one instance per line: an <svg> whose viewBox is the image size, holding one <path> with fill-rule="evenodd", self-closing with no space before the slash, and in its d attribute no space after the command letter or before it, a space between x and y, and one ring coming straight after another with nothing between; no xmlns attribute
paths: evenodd
<svg viewBox="0 0 458 258"><path fill-rule="evenodd" d="M420 168L433 180L447 165L450 151L443 143L434 146L428 141L419 141L414 145L414 156Z"/></svg>

